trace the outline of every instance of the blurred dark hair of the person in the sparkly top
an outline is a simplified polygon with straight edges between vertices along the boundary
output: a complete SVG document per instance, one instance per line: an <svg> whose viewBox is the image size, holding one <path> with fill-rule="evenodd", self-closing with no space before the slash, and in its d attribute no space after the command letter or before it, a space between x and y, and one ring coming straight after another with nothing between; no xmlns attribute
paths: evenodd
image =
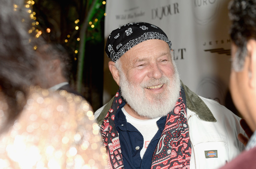
<svg viewBox="0 0 256 169"><path fill-rule="evenodd" d="M15 120L35 83L38 41L29 34L32 28L23 0L0 0L0 93L8 105L7 121Z"/></svg>

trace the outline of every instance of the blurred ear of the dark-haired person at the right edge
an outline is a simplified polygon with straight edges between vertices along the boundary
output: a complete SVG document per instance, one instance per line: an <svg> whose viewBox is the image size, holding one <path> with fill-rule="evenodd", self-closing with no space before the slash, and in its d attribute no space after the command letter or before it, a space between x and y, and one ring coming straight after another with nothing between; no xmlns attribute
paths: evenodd
<svg viewBox="0 0 256 169"><path fill-rule="evenodd" d="M251 39L247 42L247 52L247 56L249 56L249 86L251 88L256 88L256 40Z"/></svg>

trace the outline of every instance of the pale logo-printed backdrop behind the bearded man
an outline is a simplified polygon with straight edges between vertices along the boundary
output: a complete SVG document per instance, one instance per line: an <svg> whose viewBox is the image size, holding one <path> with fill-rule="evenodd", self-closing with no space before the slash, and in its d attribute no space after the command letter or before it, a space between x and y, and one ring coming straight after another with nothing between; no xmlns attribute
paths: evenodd
<svg viewBox="0 0 256 169"><path fill-rule="evenodd" d="M182 81L225 105L230 72L229 0L107 0L105 39L129 22L159 26L172 42ZM104 60L103 103L118 86ZM229 98L229 97L228 97Z"/></svg>

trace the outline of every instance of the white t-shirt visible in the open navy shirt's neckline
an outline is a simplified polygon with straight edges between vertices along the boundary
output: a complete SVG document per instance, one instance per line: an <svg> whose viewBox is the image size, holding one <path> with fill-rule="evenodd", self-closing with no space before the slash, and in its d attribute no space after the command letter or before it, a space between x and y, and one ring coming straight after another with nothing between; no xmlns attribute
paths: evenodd
<svg viewBox="0 0 256 169"><path fill-rule="evenodd" d="M150 119L150 120L140 120L130 116L126 112L124 107L122 108L122 111L126 116L127 122L133 125L137 130L139 130L139 132L143 136L144 143L143 143L143 148L140 151L140 157L142 159L150 141L153 139L153 137L155 136L155 134L159 129L157 125L157 121L160 118Z"/></svg>

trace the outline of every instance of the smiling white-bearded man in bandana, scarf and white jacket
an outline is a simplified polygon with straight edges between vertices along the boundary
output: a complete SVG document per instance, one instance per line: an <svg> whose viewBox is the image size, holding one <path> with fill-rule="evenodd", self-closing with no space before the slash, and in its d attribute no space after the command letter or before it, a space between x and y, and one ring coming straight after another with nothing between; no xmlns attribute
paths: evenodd
<svg viewBox="0 0 256 169"><path fill-rule="evenodd" d="M111 169L217 169L243 150L240 118L180 81L159 27L123 25L105 51L120 89L95 116Z"/></svg>

